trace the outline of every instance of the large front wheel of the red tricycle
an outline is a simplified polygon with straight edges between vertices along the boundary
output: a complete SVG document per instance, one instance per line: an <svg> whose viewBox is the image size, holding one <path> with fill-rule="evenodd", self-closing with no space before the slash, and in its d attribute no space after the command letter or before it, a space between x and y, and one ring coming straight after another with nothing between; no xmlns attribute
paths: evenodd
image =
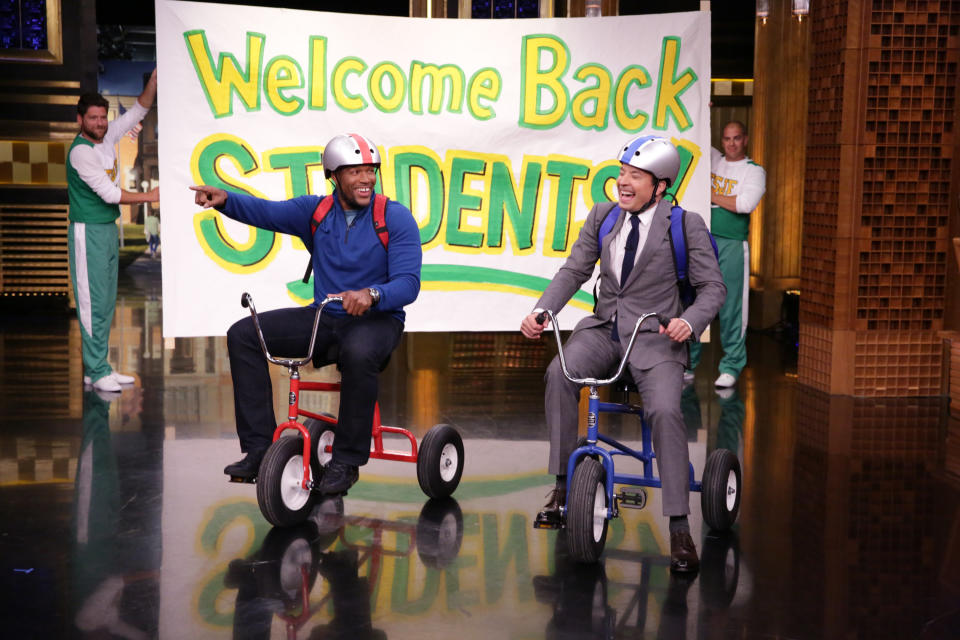
<svg viewBox="0 0 960 640"><path fill-rule="evenodd" d="M306 520L315 494L298 488L302 477L303 438L284 437L270 445L257 478L257 503L267 522L290 527Z"/></svg>

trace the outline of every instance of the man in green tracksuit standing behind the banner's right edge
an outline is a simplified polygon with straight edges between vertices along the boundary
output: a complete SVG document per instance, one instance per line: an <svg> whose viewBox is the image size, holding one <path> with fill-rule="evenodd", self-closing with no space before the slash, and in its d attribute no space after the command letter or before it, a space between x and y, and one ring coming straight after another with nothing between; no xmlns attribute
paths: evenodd
<svg viewBox="0 0 960 640"><path fill-rule="evenodd" d="M760 204L767 189L763 167L746 155L747 128L729 122L723 128L723 153L711 149L710 231L720 252L720 271L727 285L727 297L720 308L720 344L723 357L714 385L732 387L747 364L747 303L750 294L750 213ZM684 382L693 381L693 369L700 363L700 343L690 348L690 370Z"/></svg>

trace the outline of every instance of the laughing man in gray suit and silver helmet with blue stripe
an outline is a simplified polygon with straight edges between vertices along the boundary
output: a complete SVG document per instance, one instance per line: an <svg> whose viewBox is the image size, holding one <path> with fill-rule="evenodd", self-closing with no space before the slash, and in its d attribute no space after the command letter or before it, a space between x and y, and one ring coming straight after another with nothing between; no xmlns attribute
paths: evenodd
<svg viewBox="0 0 960 640"><path fill-rule="evenodd" d="M680 156L665 138L635 138L618 153L618 201L597 204L590 211L570 256L560 267L536 308L520 325L537 339L548 320L537 322L544 309L558 312L590 279L600 260L600 284L594 314L581 320L564 345L567 369L574 377L603 377L623 357L637 318L656 312L670 318L666 328L649 321L650 330L637 336L629 370L640 391L644 413L653 430L657 467L663 485L663 514L670 518L670 566L674 571L699 568L690 537L689 452L680 411L683 370L689 358L686 341L696 339L717 314L726 295L713 246L703 219L686 216L688 272L697 290L687 309L680 303L677 272L670 239L671 206L663 195L677 179ZM598 246L607 214L619 205L619 219ZM560 521L566 502L567 459L577 444L579 387L566 379L559 358L546 374L546 417L550 429L548 470L556 488L538 522Z"/></svg>

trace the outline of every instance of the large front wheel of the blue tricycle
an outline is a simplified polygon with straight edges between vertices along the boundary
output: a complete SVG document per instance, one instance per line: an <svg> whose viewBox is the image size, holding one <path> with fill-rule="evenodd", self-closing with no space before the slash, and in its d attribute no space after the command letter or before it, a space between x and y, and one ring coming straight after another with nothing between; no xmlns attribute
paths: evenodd
<svg viewBox="0 0 960 640"><path fill-rule="evenodd" d="M590 457L584 458L573 472L567 496L567 542L570 557L576 562L596 562L607 542L609 520L596 513L609 507L604 478L603 465Z"/></svg>

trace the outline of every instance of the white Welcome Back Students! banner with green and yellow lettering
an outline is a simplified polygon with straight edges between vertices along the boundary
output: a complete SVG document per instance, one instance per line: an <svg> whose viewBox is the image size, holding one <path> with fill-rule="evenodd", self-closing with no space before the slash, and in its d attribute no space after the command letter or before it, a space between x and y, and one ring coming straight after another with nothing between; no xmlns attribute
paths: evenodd
<svg viewBox="0 0 960 640"><path fill-rule="evenodd" d="M157 0L165 336L309 304L298 239L193 204L203 183L326 194L323 145L362 133L423 247L408 331L517 330L637 135L679 148L686 209L709 211L705 12L427 20ZM585 284L561 314L593 306Z"/></svg>

